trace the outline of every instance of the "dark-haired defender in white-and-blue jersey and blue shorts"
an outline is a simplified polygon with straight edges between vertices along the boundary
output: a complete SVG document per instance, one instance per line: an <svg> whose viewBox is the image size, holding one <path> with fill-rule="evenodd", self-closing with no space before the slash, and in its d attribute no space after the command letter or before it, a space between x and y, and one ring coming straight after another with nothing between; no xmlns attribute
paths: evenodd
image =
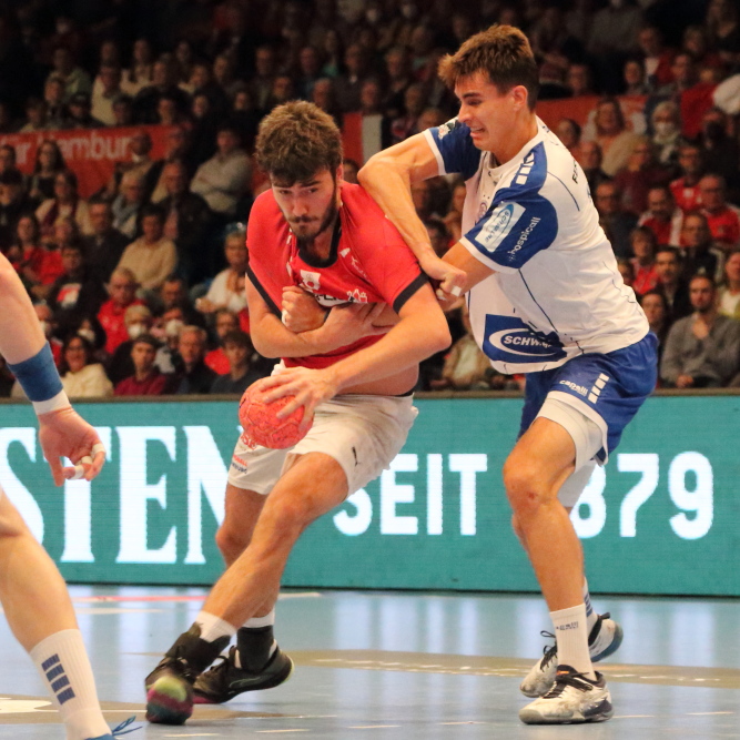
<svg viewBox="0 0 740 740"><path fill-rule="evenodd" d="M526 723L607 720L592 661L621 629L590 608L568 516L656 383L656 337L617 268L582 170L535 115L537 64L518 29L494 26L439 64L460 101L448 123L379 152L359 173L443 294L467 292L478 345L526 373L520 437L504 465L514 527L539 580L556 646L521 685ZM410 184L459 173L463 237L435 257ZM495 422L495 419L491 419Z"/></svg>

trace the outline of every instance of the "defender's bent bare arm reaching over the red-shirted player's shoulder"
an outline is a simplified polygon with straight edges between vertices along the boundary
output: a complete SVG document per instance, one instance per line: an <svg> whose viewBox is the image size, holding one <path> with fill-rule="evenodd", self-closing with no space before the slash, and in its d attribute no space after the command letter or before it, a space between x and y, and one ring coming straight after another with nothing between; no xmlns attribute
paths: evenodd
<svg viewBox="0 0 740 740"><path fill-rule="evenodd" d="M443 265L435 254L426 227L416 215L410 194L413 183L434 178L437 173L434 152L424 134L418 133L373 155L357 179L401 232L422 270L430 277L443 281L443 288L452 292L453 286L462 285L463 276L459 271L450 270L449 263Z"/></svg>

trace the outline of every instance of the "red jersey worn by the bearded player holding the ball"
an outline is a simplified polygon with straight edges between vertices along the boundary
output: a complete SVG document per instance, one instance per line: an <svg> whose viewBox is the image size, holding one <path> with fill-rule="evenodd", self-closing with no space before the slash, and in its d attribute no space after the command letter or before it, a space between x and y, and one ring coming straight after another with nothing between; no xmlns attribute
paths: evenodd
<svg viewBox="0 0 740 740"><path fill-rule="evenodd" d="M257 197L246 232L252 284L276 316L283 287L297 285L323 306L385 303L401 311L427 282L416 257L375 201L359 186L342 185L342 206L327 260L312 256L296 241L272 190ZM294 367L327 367L382 336L367 336L325 355L286 357Z"/></svg>

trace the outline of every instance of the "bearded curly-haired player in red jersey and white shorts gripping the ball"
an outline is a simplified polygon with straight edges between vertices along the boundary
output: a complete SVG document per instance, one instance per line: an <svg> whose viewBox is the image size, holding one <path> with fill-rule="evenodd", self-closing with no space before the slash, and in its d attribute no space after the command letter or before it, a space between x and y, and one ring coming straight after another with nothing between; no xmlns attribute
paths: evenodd
<svg viewBox="0 0 740 740"><path fill-rule="evenodd" d="M307 102L264 119L257 159L272 189L250 214L252 339L278 357L267 399L294 396L308 434L288 449L237 442L217 544L229 566L194 624L145 680L148 718L181 723L193 702L227 701L291 673L273 638L293 545L316 518L376 478L416 417L418 363L449 345L416 259L358 185L342 182L342 142ZM225 660L205 669L236 637Z"/></svg>

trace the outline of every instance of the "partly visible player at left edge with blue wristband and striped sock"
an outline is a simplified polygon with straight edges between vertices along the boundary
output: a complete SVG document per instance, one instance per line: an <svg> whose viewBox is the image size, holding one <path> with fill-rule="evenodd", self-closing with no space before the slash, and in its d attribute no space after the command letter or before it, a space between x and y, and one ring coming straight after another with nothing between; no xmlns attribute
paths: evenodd
<svg viewBox="0 0 740 740"><path fill-rule="evenodd" d="M0 354L33 403L39 444L54 484L61 486L67 479L82 477L92 480L103 467L105 450L98 433L72 409L31 301L3 254ZM74 467L63 468L61 457L70 458ZM64 580L1 488L0 601L10 629L30 653L59 710L67 740L118 737L130 720L111 730L103 719ZM0 690L12 693L12 673L6 675ZM61 734L44 730L43 737Z"/></svg>

